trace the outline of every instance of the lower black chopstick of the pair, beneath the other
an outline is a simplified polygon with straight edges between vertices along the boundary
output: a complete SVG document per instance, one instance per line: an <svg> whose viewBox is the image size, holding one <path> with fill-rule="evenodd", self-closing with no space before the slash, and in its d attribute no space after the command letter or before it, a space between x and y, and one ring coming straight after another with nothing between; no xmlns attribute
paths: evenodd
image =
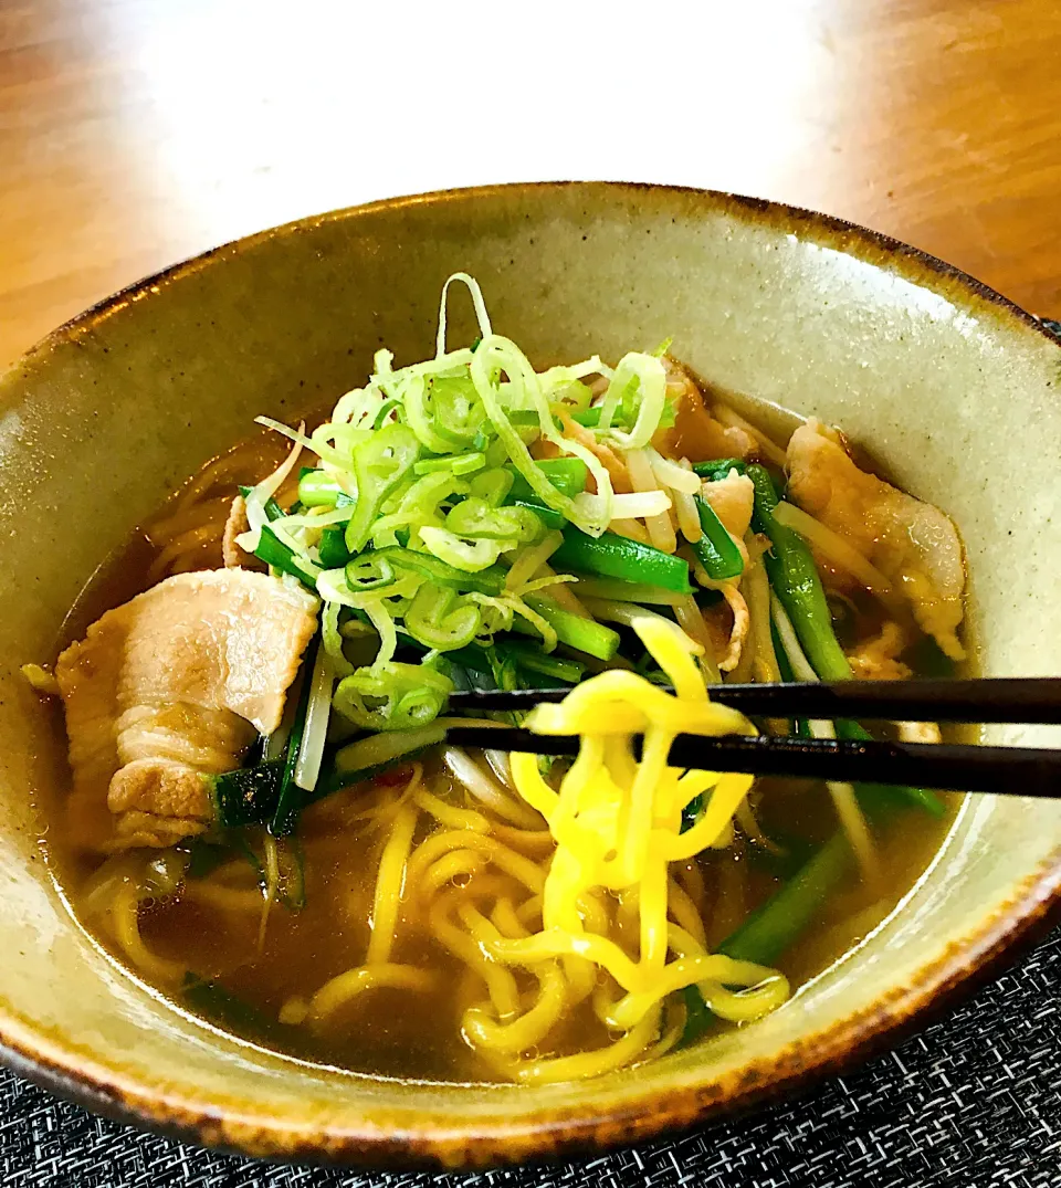
<svg viewBox="0 0 1061 1188"><path fill-rule="evenodd" d="M573 756L579 750L579 739L570 735L532 734L505 726L454 726L446 739L454 746L536 754ZM1061 800L1061 750L1036 747L680 734L670 748L670 764L753 776L914 784Z"/></svg>

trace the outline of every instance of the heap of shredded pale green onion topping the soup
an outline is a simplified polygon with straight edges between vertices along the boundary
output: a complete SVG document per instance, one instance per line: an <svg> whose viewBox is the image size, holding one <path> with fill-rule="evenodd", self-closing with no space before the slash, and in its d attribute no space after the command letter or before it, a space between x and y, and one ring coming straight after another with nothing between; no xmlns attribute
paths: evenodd
<svg viewBox="0 0 1061 1188"><path fill-rule="evenodd" d="M470 295L479 335L448 349L447 305L457 283ZM295 771L304 792L320 779L329 708L347 728L418 729L451 688L446 656L463 658L454 672L469 656L506 656L561 681L576 681L583 665L552 657L558 644L611 659L617 633L585 617L570 594L557 601L574 581L566 554L573 568L602 575L592 579L596 595L667 602L689 588L681 558L606 533L613 519L665 513L668 486L699 482L650 450L672 419L658 354L629 352L614 369L593 355L539 374L494 331L481 289L459 272L442 289L432 359L397 367L380 348L368 383L341 396L309 435L304 425L258 418L293 446L246 492L250 530L240 544L323 600ZM570 435L569 418L580 426ZM599 456L606 451L591 448L592 438L613 450L645 449L658 489L617 495ZM547 443L558 456L535 457ZM317 465L303 467L298 511L285 514L274 495L302 450ZM542 573L547 561L552 569ZM612 577L627 581L608 584ZM543 596L550 588L557 600ZM347 656L355 632L361 642ZM516 634L535 642L517 643ZM371 663L353 663L355 646L362 662L372 655L373 638Z"/></svg>

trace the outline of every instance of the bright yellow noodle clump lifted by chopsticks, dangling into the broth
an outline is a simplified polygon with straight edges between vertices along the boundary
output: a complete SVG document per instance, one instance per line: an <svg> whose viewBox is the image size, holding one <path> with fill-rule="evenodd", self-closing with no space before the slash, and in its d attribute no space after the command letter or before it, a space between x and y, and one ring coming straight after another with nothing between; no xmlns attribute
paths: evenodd
<svg viewBox="0 0 1061 1188"><path fill-rule="evenodd" d="M684 775L667 764L680 731L718 734L747 732L750 725L707 700L693 662L695 645L672 624L645 615L633 628L674 683L677 696L652 688L630 672L612 671L583 683L558 706L542 706L529 720L542 733L580 734L580 754L556 792L542 778L533 756L512 756L516 786L549 822L557 848L544 883L542 930L503 936L479 914L463 912L474 924L480 948L497 961L533 972L539 992L516 1020L491 1019L484 1004L466 1013L469 1042L507 1057L503 1067L516 1080L536 1081L594 1075L636 1059L658 1035L662 1000L684 986L703 982L712 990L718 1013L732 1019L756 1018L788 997L785 979L773 969L708 954L689 931L676 960L674 925L668 915L669 864L702 849L727 827L751 786L747 776L712 772ZM640 762L632 752L632 733L644 732ZM684 805L711 792L700 821L681 833ZM598 889L636 889L639 944L634 959L610 936L587 929L576 905ZM688 921L690 903L678 897L677 911ZM695 915L695 912L694 912ZM694 925L695 927L695 925ZM605 972L623 992L605 1022L625 1031L624 1038L599 1051L554 1060L512 1061L513 1037L526 1020L526 1035L541 1045L542 1024L554 1010L561 987L567 1000L585 987L587 967ZM594 974L593 981L596 980ZM733 993L724 987L758 987ZM491 1025L492 1024L492 1025ZM613 1063L614 1061L614 1063Z"/></svg>

